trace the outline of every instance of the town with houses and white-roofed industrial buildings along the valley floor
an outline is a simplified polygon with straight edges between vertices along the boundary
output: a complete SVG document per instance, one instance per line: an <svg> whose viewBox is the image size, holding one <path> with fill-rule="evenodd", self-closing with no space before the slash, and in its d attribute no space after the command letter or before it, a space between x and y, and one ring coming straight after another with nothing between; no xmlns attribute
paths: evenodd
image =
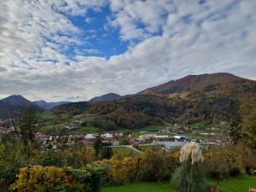
<svg viewBox="0 0 256 192"><path fill-rule="evenodd" d="M219 125L225 125L221 122ZM96 136L100 134L103 143L108 143L112 148L131 148L140 152L140 148L162 148L172 150L173 148L182 148L187 142L194 141L207 148L210 145L222 145L229 142L224 137L224 130L218 127L207 127L205 129L196 126L185 126L173 124L170 126L154 126L147 131L95 131L83 133L77 131L82 121L73 120L67 125L63 125L58 131L44 133L38 131L35 134L35 141L41 144L43 149L61 149L73 148L76 143L84 146L91 146ZM0 119L0 134L3 137L6 134L15 136L15 128L12 125L12 119ZM0 137L0 139L1 139Z"/></svg>

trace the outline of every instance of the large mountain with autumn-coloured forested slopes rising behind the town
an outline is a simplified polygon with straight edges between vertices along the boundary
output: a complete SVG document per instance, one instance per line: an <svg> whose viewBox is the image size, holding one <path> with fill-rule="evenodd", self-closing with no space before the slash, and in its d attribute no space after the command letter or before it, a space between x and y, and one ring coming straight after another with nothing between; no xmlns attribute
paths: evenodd
<svg viewBox="0 0 256 192"><path fill-rule="evenodd" d="M218 124L228 120L230 102L240 108L253 94L256 95L256 81L230 73L189 75L118 100L69 103L53 108L53 112L81 114L84 125L105 130L138 129L165 122Z"/></svg>

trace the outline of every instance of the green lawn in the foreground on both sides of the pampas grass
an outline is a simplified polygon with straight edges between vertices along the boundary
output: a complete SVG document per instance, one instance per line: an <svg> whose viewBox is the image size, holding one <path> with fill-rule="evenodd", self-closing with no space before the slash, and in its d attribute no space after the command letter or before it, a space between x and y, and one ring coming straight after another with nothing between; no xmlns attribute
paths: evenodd
<svg viewBox="0 0 256 192"><path fill-rule="evenodd" d="M213 181L209 183L216 184ZM222 180L218 186L220 192L247 192L249 187L256 188L256 177L228 178ZM102 192L174 192L174 189L171 183L131 183L106 187Z"/></svg>

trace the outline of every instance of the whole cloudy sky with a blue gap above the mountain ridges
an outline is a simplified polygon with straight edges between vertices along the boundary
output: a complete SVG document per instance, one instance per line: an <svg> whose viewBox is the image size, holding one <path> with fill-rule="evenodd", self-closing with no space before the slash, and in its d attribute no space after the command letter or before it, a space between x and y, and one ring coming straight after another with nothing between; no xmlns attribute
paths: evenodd
<svg viewBox="0 0 256 192"><path fill-rule="evenodd" d="M86 101L189 74L256 80L255 0L0 0L0 98Z"/></svg>

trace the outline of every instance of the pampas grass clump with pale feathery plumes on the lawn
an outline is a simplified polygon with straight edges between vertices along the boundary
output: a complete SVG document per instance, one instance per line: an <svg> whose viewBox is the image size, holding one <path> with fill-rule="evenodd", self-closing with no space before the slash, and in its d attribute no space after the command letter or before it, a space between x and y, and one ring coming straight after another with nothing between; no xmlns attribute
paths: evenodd
<svg viewBox="0 0 256 192"><path fill-rule="evenodd" d="M199 145L191 142L181 149L180 162L172 182L176 184L177 192L206 192L207 183L202 170L201 162L204 160Z"/></svg>

